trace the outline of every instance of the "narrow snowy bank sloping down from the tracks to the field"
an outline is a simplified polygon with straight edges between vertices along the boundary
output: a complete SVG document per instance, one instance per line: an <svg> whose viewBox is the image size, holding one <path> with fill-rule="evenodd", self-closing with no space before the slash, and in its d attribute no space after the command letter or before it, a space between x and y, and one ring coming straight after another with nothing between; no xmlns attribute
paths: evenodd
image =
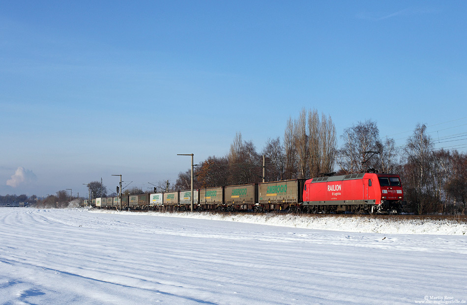
<svg viewBox="0 0 467 305"><path fill-rule="evenodd" d="M143 213L128 211L108 211L93 209L94 213L120 213L141 215ZM467 223L446 219L407 219L395 216L394 218L378 218L369 216L309 216L296 214L228 214L228 213L159 213L147 212L144 215L157 215L164 217L194 218L217 221L256 223L295 228L316 230L332 230L359 233L383 234L435 234L435 235L466 235Z"/></svg>

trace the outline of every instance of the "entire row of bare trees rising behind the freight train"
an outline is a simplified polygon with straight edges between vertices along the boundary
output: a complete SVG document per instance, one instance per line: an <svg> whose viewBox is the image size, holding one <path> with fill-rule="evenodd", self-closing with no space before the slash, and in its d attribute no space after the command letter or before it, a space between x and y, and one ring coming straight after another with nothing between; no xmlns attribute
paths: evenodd
<svg viewBox="0 0 467 305"><path fill-rule="evenodd" d="M376 122L358 122L344 130L337 148L336 128L329 116L302 110L287 122L284 139L268 139L258 153L251 141L235 135L226 156L211 156L194 170L194 188L258 183L375 171L398 173L412 211L419 214L467 212L467 155L435 150L425 125L417 125L403 147L380 139ZM190 189L191 170L180 172L175 190Z"/></svg>

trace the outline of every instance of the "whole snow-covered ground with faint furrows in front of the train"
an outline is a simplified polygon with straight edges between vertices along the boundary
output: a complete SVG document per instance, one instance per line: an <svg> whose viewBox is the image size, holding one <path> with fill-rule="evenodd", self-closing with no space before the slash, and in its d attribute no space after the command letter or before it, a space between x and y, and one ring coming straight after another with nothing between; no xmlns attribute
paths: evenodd
<svg viewBox="0 0 467 305"><path fill-rule="evenodd" d="M0 304L465 304L464 234L442 221L3 208Z"/></svg>

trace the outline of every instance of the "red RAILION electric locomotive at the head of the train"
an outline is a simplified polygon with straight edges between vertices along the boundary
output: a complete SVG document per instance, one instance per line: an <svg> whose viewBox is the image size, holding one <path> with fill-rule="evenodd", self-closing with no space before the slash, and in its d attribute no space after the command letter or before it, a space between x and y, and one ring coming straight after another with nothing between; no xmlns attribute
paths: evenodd
<svg viewBox="0 0 467 305"><path fill-rule="evenodd" d="M400 212L404 199L396 174L350 174L309 179L303 188L303 208L310 213Z"/></svg>

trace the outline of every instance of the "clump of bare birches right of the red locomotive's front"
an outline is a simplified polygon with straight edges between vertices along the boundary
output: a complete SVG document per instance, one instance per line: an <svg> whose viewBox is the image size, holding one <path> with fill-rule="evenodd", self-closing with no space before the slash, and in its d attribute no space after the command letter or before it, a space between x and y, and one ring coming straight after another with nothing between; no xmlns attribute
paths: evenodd
<svg viewBox="0 0 467 305"><path fill-rule="evenodd" d="M425 125L403 148L399 173L406 200L418 214L467 212L467 154L435 150Z"/></svg>

